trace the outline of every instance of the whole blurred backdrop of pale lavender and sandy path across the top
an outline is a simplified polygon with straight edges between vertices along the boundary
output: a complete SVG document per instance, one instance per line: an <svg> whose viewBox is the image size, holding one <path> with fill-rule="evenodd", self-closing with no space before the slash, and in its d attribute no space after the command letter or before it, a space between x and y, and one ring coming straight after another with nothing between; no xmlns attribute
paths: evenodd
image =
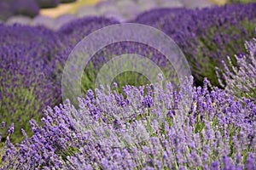
<svg viewBox="0 0 256 170"><path fill-rule="evenodd" d="M234 0L1 0L0 22L43 25L56 30L84 16L105 16L125 22L152 8L204 8L227 1Z"/></svg>

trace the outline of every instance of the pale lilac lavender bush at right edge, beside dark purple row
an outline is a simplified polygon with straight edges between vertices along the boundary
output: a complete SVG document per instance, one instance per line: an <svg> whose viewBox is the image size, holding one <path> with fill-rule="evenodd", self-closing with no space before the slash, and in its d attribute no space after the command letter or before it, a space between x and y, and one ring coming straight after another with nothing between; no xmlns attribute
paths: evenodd
<svg viewBox="0 0 256 170"><path fill-rule="evenodd" d="M252 42L246 42L247 54L235 56L237 66L232 65L228 57L230 67L224 64L223 80L219 83L231 94L237 97L246 97L256 99L256 39ZM219 70L217 68L217 70ZM219 75L219 71L217 71Z"/></svg>

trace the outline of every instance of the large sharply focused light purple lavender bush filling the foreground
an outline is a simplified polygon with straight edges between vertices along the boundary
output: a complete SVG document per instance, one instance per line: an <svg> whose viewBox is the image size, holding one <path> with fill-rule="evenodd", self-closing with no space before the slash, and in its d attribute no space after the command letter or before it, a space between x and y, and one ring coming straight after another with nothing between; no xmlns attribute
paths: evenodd
<svg viewBox="0 0 256 170"><path fill-rule="evenodd" d="M69 169L253 169L255 103L242 105L224 90L193 88L176 92L169 83L88 91L79 109L67 101L48 108L43 125L31 120L34 135L5 144L4 168ZM11 128L10 128L11 129ZM12 134L10 134L12 135Z"/></svg>

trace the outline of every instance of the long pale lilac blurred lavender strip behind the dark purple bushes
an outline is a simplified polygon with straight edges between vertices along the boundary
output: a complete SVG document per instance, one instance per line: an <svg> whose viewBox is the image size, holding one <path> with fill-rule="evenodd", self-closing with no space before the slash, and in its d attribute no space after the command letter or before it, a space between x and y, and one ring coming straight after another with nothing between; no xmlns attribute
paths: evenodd
<svg viewBox="0 0 256 170"><path fill-rule="evenodd" d="M74 14L62 14L56 19L38 15L31 19L26 16L13 16L6 21L12 25L19 23L29 26L46 26L58 30L69 21L86 16L104 16L119 22L133 20L138 14L153 8L205 8L212 6L208 0L105 0L95 5L84 5Z"/></svg>

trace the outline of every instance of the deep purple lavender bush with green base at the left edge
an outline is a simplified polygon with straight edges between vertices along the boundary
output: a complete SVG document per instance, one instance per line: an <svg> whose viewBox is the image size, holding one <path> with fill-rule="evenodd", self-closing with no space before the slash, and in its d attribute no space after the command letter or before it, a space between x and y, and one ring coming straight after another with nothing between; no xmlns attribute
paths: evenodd
<svg viewBox="0 0 256 170"><path fill-rule="evenodd" d="M39 120L47 105L60 102L53 57L61 42L52 31L39 27L1 25L0 35L0 119L6 122L0 133L5 140L6 127L15 122L11 140L18 142L21 127L31 136L28 121Z"/></svg>

